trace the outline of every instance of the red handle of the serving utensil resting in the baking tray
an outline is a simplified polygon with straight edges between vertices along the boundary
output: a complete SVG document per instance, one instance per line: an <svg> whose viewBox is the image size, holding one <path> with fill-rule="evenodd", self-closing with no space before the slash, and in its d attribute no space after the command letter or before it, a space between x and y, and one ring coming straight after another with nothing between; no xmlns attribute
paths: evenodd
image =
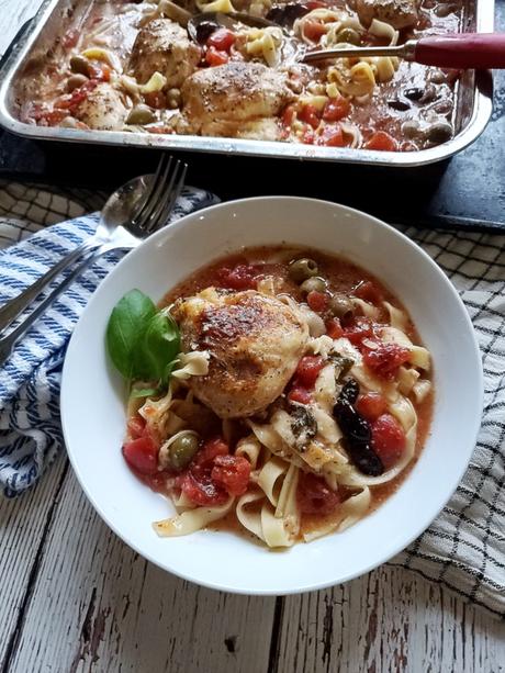
<svg viewBox="0 0 505 673"><path fill-rule="evenodd" d="M414 60L439 68L505 68L505 33L458 33L423 37Z"/></svg>

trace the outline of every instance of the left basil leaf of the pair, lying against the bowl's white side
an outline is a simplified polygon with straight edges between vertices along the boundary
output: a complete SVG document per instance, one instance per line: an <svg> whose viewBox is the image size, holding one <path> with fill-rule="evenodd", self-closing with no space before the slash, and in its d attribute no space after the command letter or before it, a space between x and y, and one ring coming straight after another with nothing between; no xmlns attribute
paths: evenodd
<svg viewBox="0 0 505 673"><path fill-rule="evenodd" d="M131 290L112 310L106 326L106 347L115 368L125 379L135 377L138 341L147 321L155 315L154 302L139 290Z"/></svg>

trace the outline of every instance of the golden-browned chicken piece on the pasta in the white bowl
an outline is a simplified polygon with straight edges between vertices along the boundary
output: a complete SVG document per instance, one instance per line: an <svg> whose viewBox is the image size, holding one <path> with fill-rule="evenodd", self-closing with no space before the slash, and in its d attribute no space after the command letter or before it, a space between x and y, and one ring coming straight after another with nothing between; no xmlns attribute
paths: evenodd
<svg viewBox="0 0 505 673"><path fill-rule="evenodd" d="M192 391L221 418L250 416L283 391L303 355L308 330L280 300L254 290L209 288L172 310L183 350L207 350L209 373Z"/></svg>

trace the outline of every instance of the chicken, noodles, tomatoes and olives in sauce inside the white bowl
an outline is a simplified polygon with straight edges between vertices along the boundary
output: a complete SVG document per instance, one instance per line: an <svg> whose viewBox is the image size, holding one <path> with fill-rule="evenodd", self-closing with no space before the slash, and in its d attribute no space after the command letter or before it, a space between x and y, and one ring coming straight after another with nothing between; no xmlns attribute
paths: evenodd
<svg viewBox="0 0 505 673"><path fill-rule="evenodd" d="M122 371L120 313L132 321L143 302L128 293L109 323ZM166 338L167 378L148 371L160 322L180 347L173 357ZM429 352L399 301L341 258L278 247L214 262L142 316L132 351L145 361L133 362L143 378L130 378L123 455L177 508L154 524L162 537L226 519L285 548L345 530L399 485L426 437Z"/></svg>

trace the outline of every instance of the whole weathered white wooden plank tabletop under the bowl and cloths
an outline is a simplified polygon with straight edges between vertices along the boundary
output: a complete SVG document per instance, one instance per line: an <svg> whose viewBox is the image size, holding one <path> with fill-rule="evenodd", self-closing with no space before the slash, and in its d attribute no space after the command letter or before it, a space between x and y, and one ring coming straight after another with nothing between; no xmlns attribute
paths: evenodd
<svg viewBox="0 0 505 673"><path fill-rule="evenodd" d="M40 0L0 0L0 54ZM0 671L505 671L505 624L383 565L285 598L223 594L145 561L97 516L61 455L0 501Z"/></svg>

